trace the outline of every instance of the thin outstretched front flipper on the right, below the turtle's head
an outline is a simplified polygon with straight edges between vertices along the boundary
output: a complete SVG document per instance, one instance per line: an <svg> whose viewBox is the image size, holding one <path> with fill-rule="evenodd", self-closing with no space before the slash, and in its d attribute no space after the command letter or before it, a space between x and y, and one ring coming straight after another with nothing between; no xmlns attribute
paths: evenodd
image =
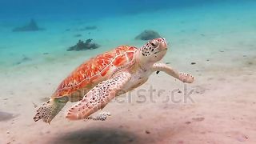
<svg viewBox="0 0 256 144"><path fill-rule="evenodd" d="M178 80L186 83L194 82L194 77L190 74L186 73L178 73L178 71L172 69L170 66L167 66L165 63L155 63L152 67L152 71L164 71L166 74L173 76L174 78L178 78Z"/></svg>

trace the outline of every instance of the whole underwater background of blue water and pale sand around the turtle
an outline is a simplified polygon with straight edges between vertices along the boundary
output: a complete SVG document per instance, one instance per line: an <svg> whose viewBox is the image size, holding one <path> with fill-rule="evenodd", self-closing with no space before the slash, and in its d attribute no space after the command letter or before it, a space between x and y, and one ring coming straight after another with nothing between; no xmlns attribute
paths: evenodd
<svg viewBox="0 0 256 144"><path fill-rule="evenodd" d="M71 102L50 125L33 121L74 68L120 45L139 48L145 30L169 42L164 62L194 75L193 100L154 93L156 102L138 103L134 90L133 101L106 106L106 122L68 122ZM92 47L71 50L79 40ZM0 0L0 144L256 143L255 64L255 0ZM163 73L138 90L150 87L184 89Z"/></svg>

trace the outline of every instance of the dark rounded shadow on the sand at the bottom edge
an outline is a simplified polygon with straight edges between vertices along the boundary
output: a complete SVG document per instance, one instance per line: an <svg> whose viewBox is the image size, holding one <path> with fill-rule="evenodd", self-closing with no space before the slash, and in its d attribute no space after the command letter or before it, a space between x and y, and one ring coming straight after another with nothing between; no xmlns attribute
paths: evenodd
<svg viewBox="0 0 256 144"><path fill-rule="evenodd" d="M109 143L138 143L138 137L131 132L122 129L95 128L89 130L77 130L60 135L51 143L78 143L78 144L109 144Z"/></svg>

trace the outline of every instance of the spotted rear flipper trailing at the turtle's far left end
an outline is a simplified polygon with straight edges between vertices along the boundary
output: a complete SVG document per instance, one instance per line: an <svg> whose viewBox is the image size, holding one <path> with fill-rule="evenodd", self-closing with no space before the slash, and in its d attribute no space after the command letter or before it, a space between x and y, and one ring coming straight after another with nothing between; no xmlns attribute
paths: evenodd
<svg viewBox="0 0 256 144"><path fill-rule="evenodd" d="M34 122L42 119L43 122L50 123L68 102L67 97L50 98L49 101L42 104L34 116Z"/></svg>

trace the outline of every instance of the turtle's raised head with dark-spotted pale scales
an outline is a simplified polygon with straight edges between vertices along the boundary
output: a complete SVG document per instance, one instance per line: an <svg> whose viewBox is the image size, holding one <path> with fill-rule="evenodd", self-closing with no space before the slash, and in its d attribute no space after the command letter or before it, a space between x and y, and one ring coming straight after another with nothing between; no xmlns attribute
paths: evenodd
<svg viewBox="0 0 256 144"><path fill-rule="evenodd" d="M154 38L147 42L139 52L139 62L141 65L154 64L160 61L167 51L167 43L165 38Z"/></svg>

